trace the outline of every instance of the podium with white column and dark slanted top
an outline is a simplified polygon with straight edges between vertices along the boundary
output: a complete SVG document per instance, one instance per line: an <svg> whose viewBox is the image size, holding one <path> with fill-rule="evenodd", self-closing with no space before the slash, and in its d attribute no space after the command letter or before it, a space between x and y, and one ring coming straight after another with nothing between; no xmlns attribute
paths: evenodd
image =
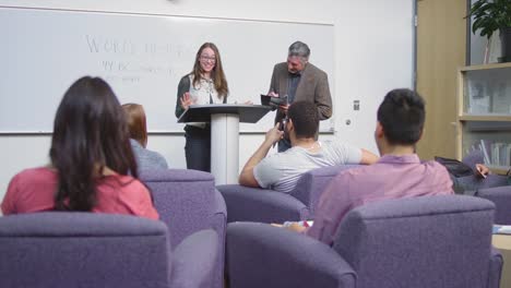
<svg viewBox="0 0 511 288"><path fill-rule="evenodd" d="M271 109L262 105L191 105L178 122L211 122L211 172L216 184L234 184L238 183L239 122L255 123Z"/></svg>

